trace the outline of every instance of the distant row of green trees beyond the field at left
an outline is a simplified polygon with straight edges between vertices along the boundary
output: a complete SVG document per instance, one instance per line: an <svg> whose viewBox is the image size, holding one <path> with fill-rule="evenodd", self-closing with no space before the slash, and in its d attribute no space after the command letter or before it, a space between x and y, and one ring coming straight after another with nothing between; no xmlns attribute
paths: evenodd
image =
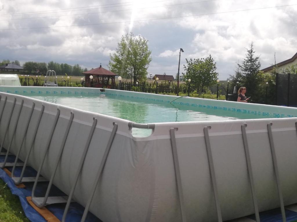
<svg viewBox="0 0 297 222"><path fill-rule="evenodd" d="M8 59L4 59L2 62L0 62L1 65L6 65L6 63L12 63L13 61L10 61ZM15 60L13 62L16 65L20 65L20 62L18 60ZM39 74L39 75L45 75L48 70L55 70L57 75L72 75L72 76L84 76L82 73L88 71L87 68L82 68L80 65L76 64L74 66L68 65L67 63L58 63L50 61L47 63L45 62L25 62L24 65L24 72L31 73L31 74Z"/></svg>

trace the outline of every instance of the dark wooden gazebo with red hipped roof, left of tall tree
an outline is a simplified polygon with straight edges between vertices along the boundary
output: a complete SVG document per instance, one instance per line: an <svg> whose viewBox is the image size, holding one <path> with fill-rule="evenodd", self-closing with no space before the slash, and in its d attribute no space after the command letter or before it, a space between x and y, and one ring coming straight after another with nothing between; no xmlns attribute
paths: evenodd
<svg viewBox="0 0 297 222"><path fill-rule="evenodd" d="M113 89L115 86L116 74L102 68L101 64L100 67L83 72L83 74L85 74L86 87ZM93 76L92 81L90 81L90 75ZM111 80L111 84L109 80Z"/></svg>

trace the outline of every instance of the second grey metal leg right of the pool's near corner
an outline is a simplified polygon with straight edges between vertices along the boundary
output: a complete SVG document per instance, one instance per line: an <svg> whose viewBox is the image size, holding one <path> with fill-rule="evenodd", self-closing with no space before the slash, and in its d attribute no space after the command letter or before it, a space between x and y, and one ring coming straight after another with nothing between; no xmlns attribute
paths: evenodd
<svg viewBox="0 0 297 222"><path fill-rule="evenodd" d="M211 184L214 190L214 201L216 203L218 222L222 222L223 220L222 220L222 212L221 212L221 207L219 202L217 180L214 172L214 160L212 159L211 146L210 146L210 140L209 140L209 134L208 134L209 128L211 127L210 126L204 127L203 132L204 132L204 139L205 139L206 152L207 152L207 158L208 158L208 166L209 166L210 177L211 177Z"/></svg>

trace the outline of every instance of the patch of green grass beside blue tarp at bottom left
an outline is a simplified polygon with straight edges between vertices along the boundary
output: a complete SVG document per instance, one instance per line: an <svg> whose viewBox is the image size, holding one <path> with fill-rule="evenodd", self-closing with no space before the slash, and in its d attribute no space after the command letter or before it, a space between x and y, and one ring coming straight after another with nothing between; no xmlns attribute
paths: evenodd
<svg viewBox="0 0 297 222"><path fill-rule="evenodd" d="M29 222L18 196L11 193L7 185L0 179L0 221Z"/></svg>

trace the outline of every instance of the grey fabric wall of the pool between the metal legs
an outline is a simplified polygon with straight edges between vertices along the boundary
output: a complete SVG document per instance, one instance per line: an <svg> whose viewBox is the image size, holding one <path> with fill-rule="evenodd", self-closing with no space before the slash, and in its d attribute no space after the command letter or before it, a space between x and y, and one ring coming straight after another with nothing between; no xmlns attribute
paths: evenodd
<svg viewBox="0 0 297 222"><path fill-rule="evenodd" d="M56 90L50 88L40 87L38 91L46 90L51 92L51 90ZM90 90L90 93L99 91L98 89L67 89L71 92L72 90L79 90L77 92ZM61 90L60 87L59 90ZM112 90L105 90L105 92L100 93L129 95L133 96L133 98L138 96L138 99L147 95L149 99L157 98L159 100L157 102L162 102L162 100L163 102L172 101L176 98L175 96ZM175 134L185 206L184 215L187 221L217 221L217 210L206 151L205 127L208 127L209 132L218 200L223 220L230 220L255 212L241 131L243 125L247 133L259 211L280 206L268 138L268 124L272 124L272 136L283 202L285 205L297 202L297 118L155 123L155 128L149 137L134 138L128 126L129 120L72 109L15 94L0 93L0 95L0 110L3 107L4 98L7 96L7 103L0 122L1 141L8 124L9 115L12 112L13 100L14 98L17 99L17 104L12 113L12 122L4 141L4 148L9 145L9 141L14 136L13 127L16 124L16 115L20 109L21 100L24 100L20 120L17 123L17 131L10 150L13 154L16 154L20 147L26 120L33 102L35 103L34 118L30 122L25 144L22 147L21 160L24 160L30 149L29 145L33 139L32 134L36 128L37 117L40 114L42 105L45 106L29 158L29 165L36 170L41 164L57 109L61 111L42 169L42 175L46 178L50 178L53 173L53 163L56 161L58 150L61 147L68 120L71 112L74 114L61 162L54 178L54 184L66 194L69 194L73 184L78 163L94 118L98 120L74 193L74 199L83 206L86 205L88 197L91 195L91 186L112 128L115 123L118 125L116 136L90 207L90 211L102 221L182 220L170 129L174 129ZM203 99L181 99L189 101L189 104L205 103L205 105L214 105L216 107L230 106L235 108L239 104ZM294 108L254 106L254 104L241 105L244 105L246 109L249 108L248 105L252 105L251 110L257 110L258 112L260 110L263 110L261 112L268 112L274 109L272 113L296 115L296 109Z"/></svg>

